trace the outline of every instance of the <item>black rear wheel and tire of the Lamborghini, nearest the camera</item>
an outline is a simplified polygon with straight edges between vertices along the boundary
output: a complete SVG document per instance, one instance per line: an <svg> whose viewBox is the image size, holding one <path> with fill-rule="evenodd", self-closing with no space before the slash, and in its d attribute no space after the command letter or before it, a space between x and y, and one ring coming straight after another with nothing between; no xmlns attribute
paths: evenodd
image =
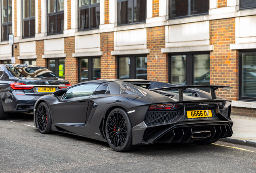
<svg viewBox="0 0 256 173"><path fill-rule="evenodd" d="M139 149L139 146L132 145L132 124L124 109L113 109L107 117L105 127L107 143L114 151L124 152Z"/></svg>

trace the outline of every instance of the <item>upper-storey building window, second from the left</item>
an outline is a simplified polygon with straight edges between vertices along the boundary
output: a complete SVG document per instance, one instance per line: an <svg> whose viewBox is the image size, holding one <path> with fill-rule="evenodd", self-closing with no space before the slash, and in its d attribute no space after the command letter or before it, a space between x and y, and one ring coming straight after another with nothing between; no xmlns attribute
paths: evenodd
<svg viewBox="0 0 256 173"><path fill-rule="evenodd" d="M22 38L35 36L35 0L22 0Z"/></svg>

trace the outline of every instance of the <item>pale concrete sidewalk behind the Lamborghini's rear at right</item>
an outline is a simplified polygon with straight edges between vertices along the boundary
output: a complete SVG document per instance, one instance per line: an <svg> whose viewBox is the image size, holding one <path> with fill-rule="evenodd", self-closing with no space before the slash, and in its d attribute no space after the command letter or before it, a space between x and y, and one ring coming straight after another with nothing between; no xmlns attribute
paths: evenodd
<svg viewBox="0 0 256 173"><path fill-rule="evenodd" d="M231 119L233 135L220 141L256 147L256 118L231 115Z"/></svg>

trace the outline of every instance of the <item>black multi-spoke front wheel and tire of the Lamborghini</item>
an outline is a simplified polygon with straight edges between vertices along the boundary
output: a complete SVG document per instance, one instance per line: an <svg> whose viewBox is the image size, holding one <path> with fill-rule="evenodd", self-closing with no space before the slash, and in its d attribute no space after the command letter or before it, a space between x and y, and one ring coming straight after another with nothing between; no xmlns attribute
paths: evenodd
<svg viewBox="0 0 256 173"><path fill-rule="evenodd" d="M36 125L40 133L47 134L52 132L52 117L47 103L42 102L37 107Z"/></svg>

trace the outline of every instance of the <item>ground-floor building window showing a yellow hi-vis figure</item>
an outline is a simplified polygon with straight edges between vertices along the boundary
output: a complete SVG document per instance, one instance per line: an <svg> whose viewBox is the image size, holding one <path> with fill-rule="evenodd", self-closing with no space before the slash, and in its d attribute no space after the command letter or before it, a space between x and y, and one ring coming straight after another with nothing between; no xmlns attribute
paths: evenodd
<svg viewBox="0 0 256 173"><path fill-rule="evenodd" d="M48 69L58 74L58 76L65 78L65 59L64 58L48 59L47 64L48 64Z"/></svg>

